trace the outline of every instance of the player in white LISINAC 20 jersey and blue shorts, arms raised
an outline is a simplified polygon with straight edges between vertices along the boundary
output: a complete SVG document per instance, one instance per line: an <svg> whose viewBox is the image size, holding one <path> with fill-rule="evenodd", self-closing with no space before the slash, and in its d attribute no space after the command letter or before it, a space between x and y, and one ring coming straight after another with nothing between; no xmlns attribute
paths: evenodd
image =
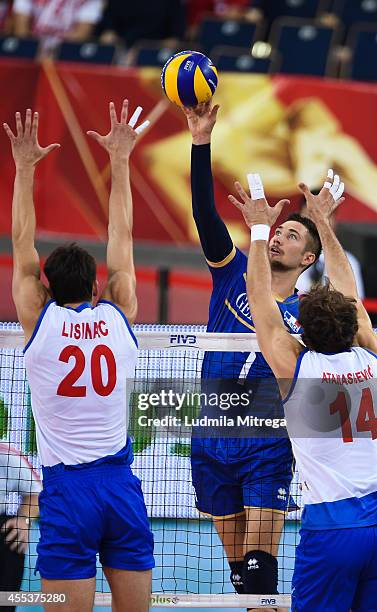
<svg viewBox="0 0 377 612"><path fill-rule="evenodd" d="M42 463L37 567L43 590L64 593L70 612L92 610L96 555L112 591L113 610L149 609L153 537L127 438L127 390L136 363L129 156L141 108L127 123L128 101L111 129L88 132L108 152L112 187L108 282L98 295L93 257L76 244L47 258L40 281L34 246L35 165L59 145L38 144L38 114L4 125L16 164L12 209L13 298L25 332L25 367ZM45 606L49 609L49 604ZM51 604L55 609L55 604Z"/></svg>

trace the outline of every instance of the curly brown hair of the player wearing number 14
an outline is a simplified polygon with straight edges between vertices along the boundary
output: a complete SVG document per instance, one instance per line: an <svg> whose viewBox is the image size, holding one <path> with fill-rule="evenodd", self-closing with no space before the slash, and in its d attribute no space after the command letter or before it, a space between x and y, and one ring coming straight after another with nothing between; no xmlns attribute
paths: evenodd
<svg viewBox="0 0 377 612"><path fill-rule="evenodd" d="M300 298L298 321L304 330L302 339L311 351L347 351L358 330L356 300L327 281Z"/></svg>

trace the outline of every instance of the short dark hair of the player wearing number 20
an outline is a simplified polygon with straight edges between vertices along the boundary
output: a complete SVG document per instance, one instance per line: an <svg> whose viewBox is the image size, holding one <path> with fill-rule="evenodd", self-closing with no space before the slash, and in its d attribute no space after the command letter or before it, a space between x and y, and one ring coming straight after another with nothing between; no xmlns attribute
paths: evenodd
<svg viewBox="0 0 377 612"><path fill-rule="evenodd" d="M46 259L44 273L58 306L92 299L96 280L94 257L75 242L56 248Z"/></svg>

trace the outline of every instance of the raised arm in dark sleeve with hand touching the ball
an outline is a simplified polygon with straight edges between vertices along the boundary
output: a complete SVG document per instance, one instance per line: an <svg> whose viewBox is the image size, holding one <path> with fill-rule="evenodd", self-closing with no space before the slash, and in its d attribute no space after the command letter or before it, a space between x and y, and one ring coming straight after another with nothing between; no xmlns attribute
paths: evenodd
<svg viewBox="0 0 377 612"><path fill-rule="evenodd" d="M219 106L211 103L185 108L192 135L191 192L192 212L200 243L208 263L225 262L235 255L235 247L224 221L216 210L211 169L211 135Z"/></svg>

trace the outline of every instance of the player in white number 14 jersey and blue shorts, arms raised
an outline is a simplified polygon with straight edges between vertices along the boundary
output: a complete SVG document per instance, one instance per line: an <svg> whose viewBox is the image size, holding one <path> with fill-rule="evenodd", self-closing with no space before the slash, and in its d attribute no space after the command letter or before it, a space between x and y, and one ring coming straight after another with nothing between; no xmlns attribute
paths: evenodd
<svg viewBox="0 0 377 612"><path fill-rule="evenodd" d="M271 209L263 192L250 198L238 188L242 201L231 198L251 228L248 300L259 346L285 402L305 502L292 610L372 612L377 611L377 337L329 223L342 201L343 183L329 170L318 196L304 184L300 188L332 283L300 300L306 349L287 333L271 295L266 249Z"/></svg>

